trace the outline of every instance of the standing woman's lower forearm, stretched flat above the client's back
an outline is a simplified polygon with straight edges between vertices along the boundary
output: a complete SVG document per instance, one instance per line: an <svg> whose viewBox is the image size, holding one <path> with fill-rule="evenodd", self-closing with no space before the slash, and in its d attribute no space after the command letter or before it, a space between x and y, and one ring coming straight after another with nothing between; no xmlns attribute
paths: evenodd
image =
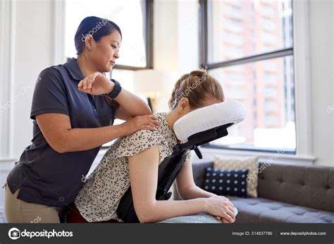
<svg viewBox="0 0 334 244"><path fill-rule="evenodd" d="M106 142L124 136L123 125L100 128L73 128L61 140L58 152L79 152L100 147Z"/></svg>

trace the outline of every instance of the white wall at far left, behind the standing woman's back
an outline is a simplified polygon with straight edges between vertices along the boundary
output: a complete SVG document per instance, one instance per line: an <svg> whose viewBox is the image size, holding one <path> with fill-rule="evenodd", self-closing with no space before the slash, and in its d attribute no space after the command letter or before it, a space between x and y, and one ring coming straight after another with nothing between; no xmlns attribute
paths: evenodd
<svg viewBox="0 0 334 244"><path fill-rule="evenodd" d="M0 186L32 139L30 107L35 81L53 57L52 1L1 0L1 116ZM8 38L8 40L7 40ZM2 55L4 51L4 56ZM8 56L6 56L8 54ZM6 66L8 65L8 67ZM1 188L0 188L1 189ZM0 218L4 192L0 191Z"/></svg>

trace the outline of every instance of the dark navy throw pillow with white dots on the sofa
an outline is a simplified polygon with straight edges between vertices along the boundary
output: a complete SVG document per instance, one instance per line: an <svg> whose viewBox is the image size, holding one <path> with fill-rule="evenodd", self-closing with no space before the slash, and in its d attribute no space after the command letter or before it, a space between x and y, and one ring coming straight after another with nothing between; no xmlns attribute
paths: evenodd
<svg viewBox="0 0 334 244"><path fill-rule="evenodd" d="M216 195L247 197L247 173L248 169L205 168L202 188Z"/></svg>

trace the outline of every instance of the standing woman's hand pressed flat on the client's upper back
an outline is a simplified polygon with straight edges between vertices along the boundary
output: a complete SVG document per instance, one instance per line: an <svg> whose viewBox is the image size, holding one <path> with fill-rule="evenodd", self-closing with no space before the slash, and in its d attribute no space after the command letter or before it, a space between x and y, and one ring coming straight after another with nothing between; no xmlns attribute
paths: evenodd
<svg viewBox="0 0 334 244"><path fill-rule="evenodd" d="M140 115L129 118L121 124L124 135L132 135L137 130L156 130L159 126L158 119L152 115Z"/></svg>

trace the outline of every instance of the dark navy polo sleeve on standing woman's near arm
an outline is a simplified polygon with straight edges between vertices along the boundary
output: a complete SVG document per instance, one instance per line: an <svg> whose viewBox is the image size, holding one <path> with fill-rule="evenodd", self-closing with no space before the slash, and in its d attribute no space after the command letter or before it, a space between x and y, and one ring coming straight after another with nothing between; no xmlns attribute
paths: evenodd
<svg viewBox="0 0 334 244"><path fill-rule="evenodd" d="M56 68L46 68L39 74L32 97L30 118L45 113L69 115L66 87Z"/></svg>

